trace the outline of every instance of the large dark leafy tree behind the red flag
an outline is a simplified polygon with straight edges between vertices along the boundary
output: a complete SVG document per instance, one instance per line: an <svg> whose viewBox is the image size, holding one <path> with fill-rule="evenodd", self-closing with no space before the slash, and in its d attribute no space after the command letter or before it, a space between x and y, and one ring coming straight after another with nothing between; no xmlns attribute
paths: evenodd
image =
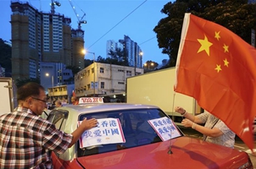
<svg viewBox="0 0 256 169"><path fill-rule="evenodd" d="M159 48L170 57L169 67L176 63L185 13L223 25L248 43L256 25L256 4L248 4L247 0L177 0L166 3L161 13L167 17L160 19L153 31L157 33Z"/></svg>

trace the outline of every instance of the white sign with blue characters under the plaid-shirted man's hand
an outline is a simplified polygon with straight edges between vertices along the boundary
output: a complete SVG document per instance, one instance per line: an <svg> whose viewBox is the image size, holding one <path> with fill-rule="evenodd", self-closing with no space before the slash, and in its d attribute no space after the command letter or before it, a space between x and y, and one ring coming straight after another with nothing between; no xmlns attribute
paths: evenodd
<svg viewBox="0 0 256 169"><path fill-rule="evenodd" d="M80 148L92 145L125 143L119 118L97 119L97 127L86 130L80 139ZM78 125L81 121L78 122Z"/></svg>

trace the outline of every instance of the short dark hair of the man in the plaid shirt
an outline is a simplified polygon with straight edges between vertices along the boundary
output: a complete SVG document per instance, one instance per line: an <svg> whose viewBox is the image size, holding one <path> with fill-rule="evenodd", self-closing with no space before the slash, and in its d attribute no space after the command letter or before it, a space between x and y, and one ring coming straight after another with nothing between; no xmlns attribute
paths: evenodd
<svg viewBox="0 0 256 169"><path fill-rule="evenodd" d="M25 85L22 85L17 90L17 100L18 101L25 101L27 97L30 96L38 96L40 95L40 91L44 90L42 85L39 85L35 82L28 82Z"/></svg>

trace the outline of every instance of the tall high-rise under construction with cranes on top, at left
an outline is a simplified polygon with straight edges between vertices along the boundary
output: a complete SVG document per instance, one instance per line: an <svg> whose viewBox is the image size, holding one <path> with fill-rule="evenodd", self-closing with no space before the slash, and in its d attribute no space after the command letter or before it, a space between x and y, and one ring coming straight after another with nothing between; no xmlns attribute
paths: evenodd
<svg viewBox="0 0 256 169"><path fill-rule="evenodd" d="M42 13L12 2L12 78L39 78L40 63L84 68L84 31L73 30L64 14Z"/></svg>

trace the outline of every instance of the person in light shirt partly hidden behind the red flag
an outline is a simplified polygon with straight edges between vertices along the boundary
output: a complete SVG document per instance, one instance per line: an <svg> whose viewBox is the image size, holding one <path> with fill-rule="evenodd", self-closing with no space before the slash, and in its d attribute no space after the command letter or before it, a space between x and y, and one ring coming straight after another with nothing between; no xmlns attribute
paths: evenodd
<svg viewBox="0 0 256 169"><path fill-rule="evenodd" d="M181 106L176 106L175 112L179 112L183 117L186 117L182 120L181 124L186 128L193 128L203 134L204 141L234 148L236 134L219 118L214 117L214 115L206 111L197 116L193 116L191 113L186 112ZM205 123L204 126L198 125L203 123Z"/></svg>

